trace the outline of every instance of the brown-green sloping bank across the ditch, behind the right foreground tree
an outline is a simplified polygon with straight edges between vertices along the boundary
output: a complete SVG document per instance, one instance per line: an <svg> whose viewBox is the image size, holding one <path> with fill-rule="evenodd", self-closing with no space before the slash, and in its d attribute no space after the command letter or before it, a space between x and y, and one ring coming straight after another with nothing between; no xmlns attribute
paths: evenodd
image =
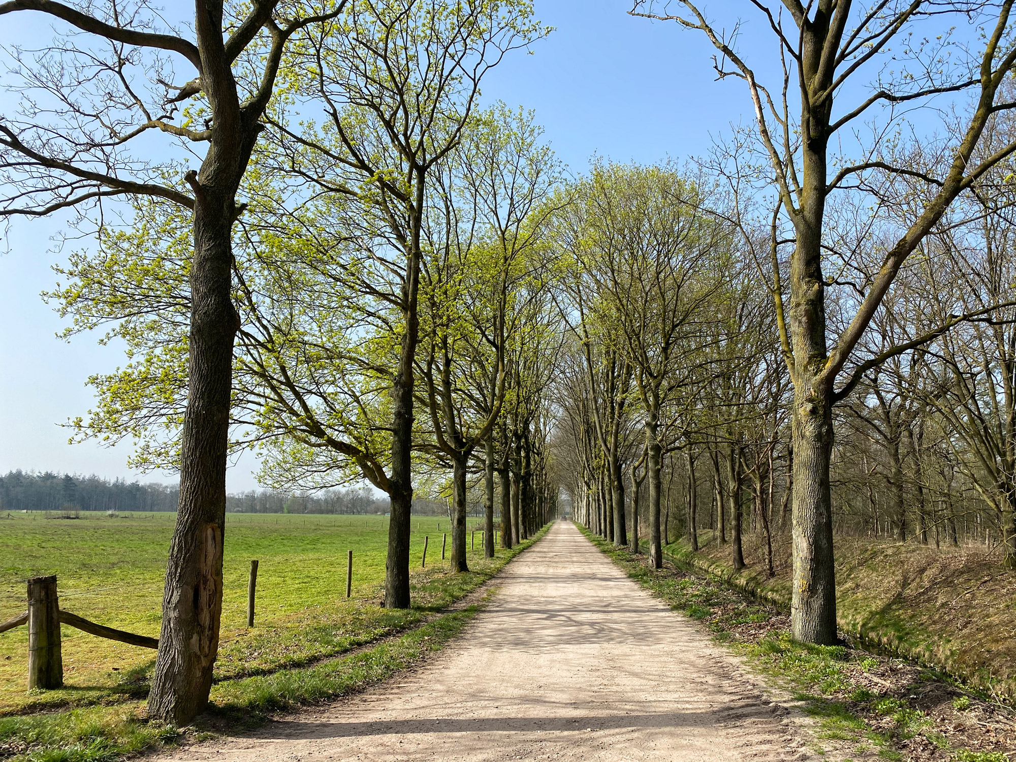
<svg viewBox="0 0 1016 762"><path fill-rule="evenodd" d="M748 568L735 572L729 545L702 532L664 550L679 565L721 577L783 609L790 604L789 538L774 537L776 576L765 572L761 534L745 537ZM870 646L955 675L994 698L1016 697L1016 572L982 547L940 550L859 537L836 539L840 629Z"/></svg>

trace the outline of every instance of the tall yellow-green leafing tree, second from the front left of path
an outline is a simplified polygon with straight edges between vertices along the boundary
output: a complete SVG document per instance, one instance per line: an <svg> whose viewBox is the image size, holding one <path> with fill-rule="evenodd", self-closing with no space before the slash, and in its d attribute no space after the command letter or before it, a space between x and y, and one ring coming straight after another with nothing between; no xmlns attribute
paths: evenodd
<svg viewBox="0 0 1016 762"><path fill-rule="evenodd" d="M289 98L272 104L244 186L230 446L260 446L260 475L273 487L366 479L389 495L391 608L409 605L424 226L440 204L438 168L461 143L483 76L546 34L530 10L514 1L364 1L308 30L285 60ZM294 103L302 127L291 125ZM315 113L320 122L308 117ZM129 265L114 269L116 288L102 287L109 262L100 257L76 262L71 274L89 288L63 298L82 326L127 318L131 348L144 357L97 379L103 402L84 434L149 437L165 427L170 436L146 439L143 453L163 464L187 378L173 320L192 295L165 277L179 257L179 226L161 207L138 213L146 229L103 242ZM153 285L140 289L139 274ZM154 314L171 316L168 330L152 331L144 316Z"/></svg>

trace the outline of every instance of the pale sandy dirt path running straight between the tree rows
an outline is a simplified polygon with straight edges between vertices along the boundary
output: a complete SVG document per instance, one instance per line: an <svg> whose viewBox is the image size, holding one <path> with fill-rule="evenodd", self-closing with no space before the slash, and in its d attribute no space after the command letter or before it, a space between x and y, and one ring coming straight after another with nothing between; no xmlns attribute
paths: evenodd
<svg viewBox="0 0 1016 762"><path fill-rule="evenodd" d="M802 759L785 711L570 523L418 672L167 760Z"/></svg>

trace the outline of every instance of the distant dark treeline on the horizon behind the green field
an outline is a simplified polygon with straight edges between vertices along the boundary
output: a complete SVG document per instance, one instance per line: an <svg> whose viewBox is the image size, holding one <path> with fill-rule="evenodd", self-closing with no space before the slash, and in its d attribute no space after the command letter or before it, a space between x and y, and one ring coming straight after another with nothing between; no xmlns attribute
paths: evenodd
<svg viewBox="0 0 1016 762"><path fill-rule="evenodd" d="M122 479L45 471L9 471L0 477L3 511L175 511L176 485L140 484ZM387 498L370 490L325 490L295 495L280 490L251 490L226 498L228 513L387 513ZM443 515L444 503L414 501L418 515Z"/></svg>

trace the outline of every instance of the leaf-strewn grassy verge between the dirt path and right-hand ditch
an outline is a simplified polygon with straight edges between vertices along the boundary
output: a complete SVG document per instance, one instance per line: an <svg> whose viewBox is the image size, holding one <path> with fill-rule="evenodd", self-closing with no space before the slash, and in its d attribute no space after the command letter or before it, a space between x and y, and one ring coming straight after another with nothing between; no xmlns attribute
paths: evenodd
<svg viewBox="0 0 1016 762"><path fill-rule="evenodd" d="M743 594L722 578L668 564L653 570L583 529L630 577L706 627L801 702L817 720L816 750L942 762L1007 762L1016 753L1016 722L1007 709L948 676L847 646L792 641L789 622L772 604Z"/></svg>

